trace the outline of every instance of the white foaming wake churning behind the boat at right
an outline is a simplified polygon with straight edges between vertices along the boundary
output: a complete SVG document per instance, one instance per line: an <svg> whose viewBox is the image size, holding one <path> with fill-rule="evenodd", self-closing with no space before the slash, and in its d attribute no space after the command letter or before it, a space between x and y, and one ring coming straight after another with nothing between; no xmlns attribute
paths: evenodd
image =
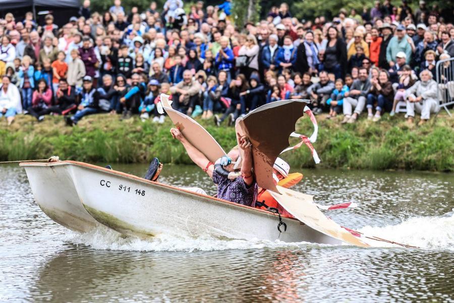
<svg viewBox="0 0 454 303"><path fill-rule="evenodd" d="M360 232L424 249L454 251L454 212L440 217L413 217L397 225L365 226ZM383 242L382 246L391 246Z"/></svg>

